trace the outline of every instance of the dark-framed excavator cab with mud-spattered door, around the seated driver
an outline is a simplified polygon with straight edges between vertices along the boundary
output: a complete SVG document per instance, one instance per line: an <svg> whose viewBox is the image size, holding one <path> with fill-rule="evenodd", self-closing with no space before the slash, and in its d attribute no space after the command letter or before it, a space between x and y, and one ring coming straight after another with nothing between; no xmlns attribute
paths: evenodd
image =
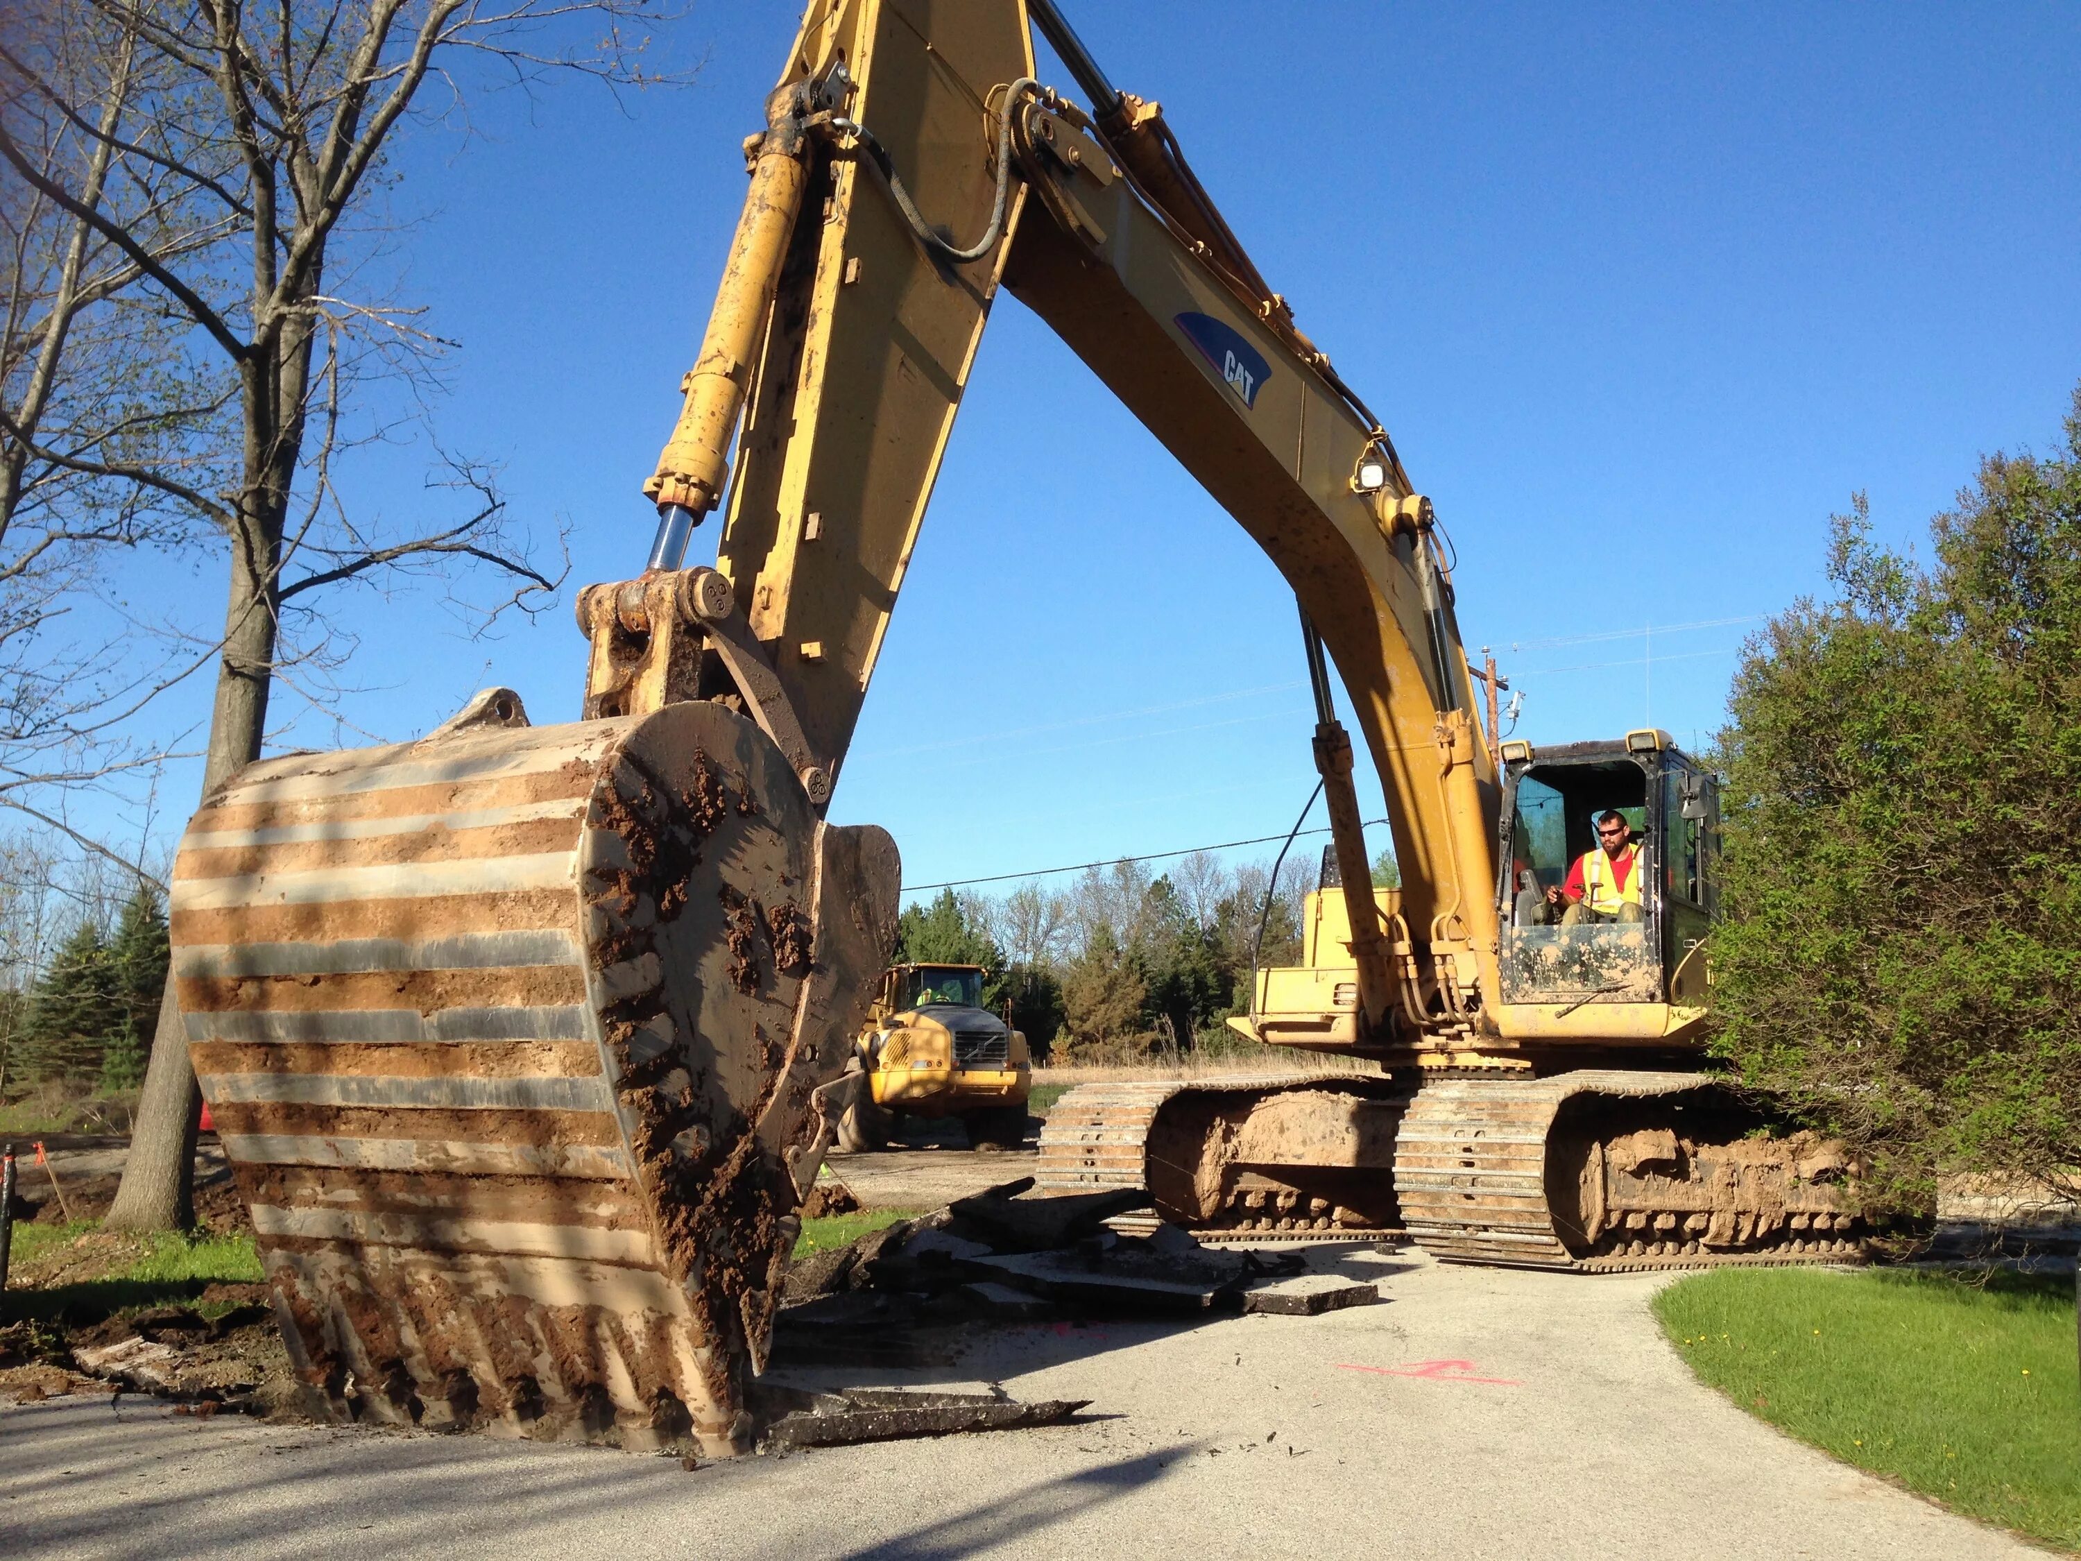
<svg viewBox="0 0 2081 1561"><path fill-rule="evenodd" d="M1719 914L1715 776L1661 731L1538 751L1505 743L1502 758L1502 1003L1552 1007L1557 1018L1611 1003L1700 1003L1698 951ZM1604 812L1621 814L1640 841L1640 920L1563 926L1550 891L1596 849Z"/></svg>

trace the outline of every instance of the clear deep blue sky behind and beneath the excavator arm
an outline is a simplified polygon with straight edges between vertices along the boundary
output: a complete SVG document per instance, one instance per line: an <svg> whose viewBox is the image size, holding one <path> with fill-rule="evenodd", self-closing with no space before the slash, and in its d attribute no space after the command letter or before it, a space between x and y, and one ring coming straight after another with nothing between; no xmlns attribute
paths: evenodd
<svg viewBox="0 0 2081 1561"><path fill-rule="evenodd" d="M1917 537L1979 452L2048 445L2081 379L2073 6L1063 8L1386 418L1534 741L1709 735L1744 633L1819 589L1829 512L1867 489ZM568 597L643 564L639 485L793 25L697 4L689 89L493 96L400 148L404 293L462 343L441 437L570 522L572 585L487 641L435 595L358 602L362 731L487 683L576 714ZM422 468L364 460L352 493L406 512ZM832 816L889 826L914 885L1284 830L1301 679L1271 566L1007 298Z"/></svg>

